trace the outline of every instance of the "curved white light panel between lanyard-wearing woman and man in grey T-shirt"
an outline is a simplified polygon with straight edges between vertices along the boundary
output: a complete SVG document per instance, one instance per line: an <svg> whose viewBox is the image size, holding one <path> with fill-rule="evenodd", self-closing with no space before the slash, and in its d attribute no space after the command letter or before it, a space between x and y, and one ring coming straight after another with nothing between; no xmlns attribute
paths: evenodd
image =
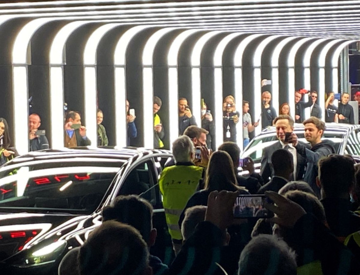
<svg viewBox="0 0 360 275"><path fill-rule="evenodd" d="M234 88L235 88L235 100L238 102L237 104L241 104L243 106L243 54L245 48L253 41L254 39L262 36L263 34L252 34L244 38L239 45L237 46L234 54ZM223 100L221 101L223 102ZM251 104L254 102L251 102ZM253 105L254 106L254 105ZM222 109L223 110L223 109ZM242 110L241 110L242 111ZM240 113L240 121L243 121L243 112ZM223 113L222 113L223 114ZM238 123L239 124L239 123ZM236 129L237 131L237 144L242 149L243 148L243 129ZM222 129L223 130L223 129ZM222 140L222 139L221 139Z"/></svg>

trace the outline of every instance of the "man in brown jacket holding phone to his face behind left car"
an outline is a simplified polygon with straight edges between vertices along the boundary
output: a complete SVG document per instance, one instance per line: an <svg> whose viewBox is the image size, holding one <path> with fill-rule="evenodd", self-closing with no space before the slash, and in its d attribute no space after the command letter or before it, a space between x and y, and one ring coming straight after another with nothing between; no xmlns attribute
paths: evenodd
<svg viewBox="0 0 360 275"><path fill-rule="evenodd" d="M86 127L81 125L79 112L67 112L64 129L64 147L72 148L91 145L90 139L86 136Z"/></svg>

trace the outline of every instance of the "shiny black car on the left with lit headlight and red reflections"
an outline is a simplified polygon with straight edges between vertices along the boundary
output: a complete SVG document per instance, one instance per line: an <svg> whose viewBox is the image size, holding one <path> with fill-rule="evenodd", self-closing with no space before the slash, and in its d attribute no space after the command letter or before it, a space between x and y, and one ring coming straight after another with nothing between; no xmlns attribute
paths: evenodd
<svg viewBox="0 0 360 275"><path fill-rule="evenodd" d="M1 273L57 274L62 257L101 224L118 195L154 206L152 253L172 257L158 178L165 150L64 149L32 152L0 168Z"/></svg>

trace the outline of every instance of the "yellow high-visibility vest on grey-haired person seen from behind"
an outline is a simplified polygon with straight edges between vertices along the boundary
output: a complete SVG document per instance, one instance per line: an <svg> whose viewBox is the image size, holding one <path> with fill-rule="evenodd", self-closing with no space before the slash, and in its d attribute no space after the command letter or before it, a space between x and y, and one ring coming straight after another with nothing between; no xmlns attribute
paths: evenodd
<svg viewBox="0 0 360 275"><path fill-rule="evenodd" d="M203 175L203 168L197 166L175 165L166 167L159 179L163 196L166 223L173 239L181 240L179 218L189 198L196 192Z"/></svg>

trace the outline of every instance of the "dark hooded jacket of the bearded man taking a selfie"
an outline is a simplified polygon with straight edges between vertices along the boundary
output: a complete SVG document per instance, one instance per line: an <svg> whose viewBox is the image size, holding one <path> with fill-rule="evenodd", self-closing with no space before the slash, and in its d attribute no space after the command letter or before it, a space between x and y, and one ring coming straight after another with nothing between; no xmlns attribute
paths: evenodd
<svg viewBox="0 0 360 275"><path fill-rule="evenodd" d="M311 149L306 148L304 144L298 142L295 146L296 151L305 158L307 165L304 176L304 181L309 183L313 188L316 196L320 198L320 189L316 185L317 177L317 161L322 157L336 153L334 142L331 140L321 140L320 143L315 144Z"/></svg>

